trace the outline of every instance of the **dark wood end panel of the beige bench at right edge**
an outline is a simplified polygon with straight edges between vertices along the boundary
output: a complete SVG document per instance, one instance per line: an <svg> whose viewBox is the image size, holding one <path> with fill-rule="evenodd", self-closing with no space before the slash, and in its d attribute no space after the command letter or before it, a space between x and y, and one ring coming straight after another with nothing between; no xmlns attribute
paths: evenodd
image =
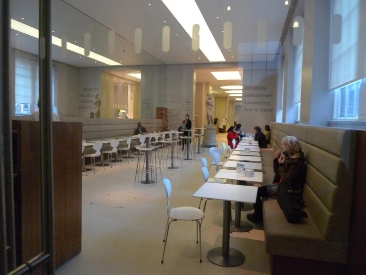
<svg viewBox="0 0 366 275"><path fill-rule="evenodd" d="M357 132L348 274L366 272L366 131Z"/></svg>

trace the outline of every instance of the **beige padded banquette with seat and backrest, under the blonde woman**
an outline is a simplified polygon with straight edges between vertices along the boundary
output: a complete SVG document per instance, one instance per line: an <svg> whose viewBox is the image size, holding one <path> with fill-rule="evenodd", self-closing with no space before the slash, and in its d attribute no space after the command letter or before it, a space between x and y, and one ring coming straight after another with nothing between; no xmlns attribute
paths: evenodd
<svg viewBox="0 0 366 275"><path fill-rule="evenodd" d="M345 274L357 131L282 123L270 127L273 152L282 138L295 136L308 163L303 193L308 218L302 223L288 223L276 200L263 200L272 274ZM273 152L265 154L268 163Z"/></svg>

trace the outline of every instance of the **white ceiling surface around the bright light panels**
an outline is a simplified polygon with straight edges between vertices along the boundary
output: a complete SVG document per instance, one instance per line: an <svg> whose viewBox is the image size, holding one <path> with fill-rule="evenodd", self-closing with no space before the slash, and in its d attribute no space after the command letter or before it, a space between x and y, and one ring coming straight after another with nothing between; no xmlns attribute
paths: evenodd
<svg viewBox="0 0 366 275"><path fill-rule="evenodd" d="M125 66L209 63L201 51L192 51L190 36L161 0L66 0L66 2L52 1L54 36L61 38L67 35L68 41L83 47L83 37L88 32L92 36L92 48L96 49L95 52L116 62L122 61ZM196 2L226 62L273 60L289 7L284 4L284 0L196 0ZM12 0L11 4L12 19L38 28L38 0ZM226 10L228 5L231 6L230 11ZM22 17L24 19L21 19ZM222 30L225 21L233 23L231 51L223 48ZM259 22L266 26L263 42L267 42L268 47L264 51L256 51L262 49L258 47ZM171 29L168 53L163 53L161 50L161 33L164 25L168 25ZM108 28L125 38L116 37L116 51L113 55L108 55ZM136 28L142 29L142 48L146 52L141 54L134 53L132 43ZM36 38L21 33L16 36L16 33L12 31L13 47L31 53L38 52ZM53 59L60 62L77 67L105 66L70 52L66 58L62 58L61 50L57 46L53 46L52 50Z"/></svg>

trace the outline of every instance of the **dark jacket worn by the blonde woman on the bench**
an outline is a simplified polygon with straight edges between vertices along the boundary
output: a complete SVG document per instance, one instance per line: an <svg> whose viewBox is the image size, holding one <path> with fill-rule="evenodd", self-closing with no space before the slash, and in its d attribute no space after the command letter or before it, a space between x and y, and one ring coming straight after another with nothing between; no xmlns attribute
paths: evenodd
<svg viewBox="0 0 366 275"><path fill-rule="evenodd" d="M273 183L278 183L280 180L289 182L294 194L301 197L305 184L306 168L306 159L303 152L300 152L298 158L289 158L285 154L284 163L278 163L278 158L275 158L273 160L273 171L275 173Z"/></svg>

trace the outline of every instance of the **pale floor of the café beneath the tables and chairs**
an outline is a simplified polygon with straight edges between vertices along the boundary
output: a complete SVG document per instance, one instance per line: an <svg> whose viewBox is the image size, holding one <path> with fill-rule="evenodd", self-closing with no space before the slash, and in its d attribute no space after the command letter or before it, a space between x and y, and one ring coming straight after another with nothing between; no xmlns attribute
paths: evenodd
<svg viewBox="0 0 366 275"><path fill-rule="evenodd" d="M217 142L226 135L217 135ZM211 161L209 150L204 156ZM202 154L183 160L177 170L164 168L163 178L172 183L171 203L176 206L198 206L192 195L203 184ZM137 158L113 168L97 167L94 175L83 175L82 252L65 263L57 275L226 275L269 274L269 257L264 251L262 226L249 233L235 233L230 246L242 251L244 264L223 268L209 262L209 249L221 246L222 202L209 201L202 229L203 262L199 262L196 224L173 222L170 227L164 264L161 264L163 234L167 219L166 195L160 177L151 187L138 183L134 187ZM214 176L214 167L210 176ZM247 212L242 212L242 220ZM234 211L233 211L234 215Z"/></svg>

